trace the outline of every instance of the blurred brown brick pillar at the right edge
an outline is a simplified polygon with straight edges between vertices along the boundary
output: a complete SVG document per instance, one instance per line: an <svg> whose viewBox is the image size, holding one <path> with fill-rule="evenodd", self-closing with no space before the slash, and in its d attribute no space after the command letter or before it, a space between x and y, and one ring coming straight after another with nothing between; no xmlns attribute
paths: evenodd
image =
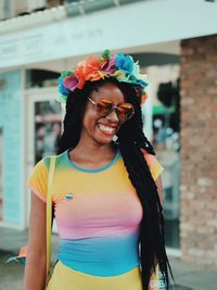
<svg viewBox="0 0 217 290"><path fill-rule="evenodd" d="M217 265L217 35L181 41L182 259Z"/></svg>

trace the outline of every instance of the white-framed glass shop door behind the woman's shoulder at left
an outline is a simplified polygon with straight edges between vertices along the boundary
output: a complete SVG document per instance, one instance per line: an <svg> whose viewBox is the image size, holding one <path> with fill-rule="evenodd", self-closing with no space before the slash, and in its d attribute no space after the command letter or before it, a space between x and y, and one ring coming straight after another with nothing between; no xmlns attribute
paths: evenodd
<svg viewBox="0 0 217 290"><path fill-rule="evenodd" d="M26 180L34 166L48 155L55 155L58 141L62 131L63 110L55 101L56 88L29 89L25 93L27 100L27 159ZM29 191L26 192L27 226L30 211ZM56 226L54 224L54 231Z"/></svg>

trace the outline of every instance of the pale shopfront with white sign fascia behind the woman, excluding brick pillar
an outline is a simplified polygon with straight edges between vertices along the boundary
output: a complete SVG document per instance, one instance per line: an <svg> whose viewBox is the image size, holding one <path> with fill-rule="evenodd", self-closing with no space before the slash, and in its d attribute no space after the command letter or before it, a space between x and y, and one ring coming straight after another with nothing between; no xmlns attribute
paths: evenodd
<svg viewBox="0 0 217 290"><path fill-rule="evenodd" d="M122 50L133 54L145 67L152 84L149 100L142 108L144 130L165 168L166 243L180 254L180 214L183 211L180 198L180 39L214 34L216 20L209 3L204 1L197 5L197 15L192 15L190 11L195 1L187 2L189 9L176 1L174 14L166 0L144 1L59 23L51 21L44 26L1 36L0 226L20 229L28 226L27 177L37 161L55 152L61 135L63 109L55 102L59 73L72 68L86 54L110 48L113 52ZM156 15L157 11L167 22L156 17L157 22L150 29L140 29L139 35L130 33L131 22L126 15L137 15L135 27L149 27L151 15ZM205 26L201 22L204 11L210 15ZM181 15L184 13L191 15L186 15L183 23ZM106 17L114 22L105 23ZM125 27L122 31L116 29L119 18ZM182 26L171 29L174 23L182 23Z"/></svg>

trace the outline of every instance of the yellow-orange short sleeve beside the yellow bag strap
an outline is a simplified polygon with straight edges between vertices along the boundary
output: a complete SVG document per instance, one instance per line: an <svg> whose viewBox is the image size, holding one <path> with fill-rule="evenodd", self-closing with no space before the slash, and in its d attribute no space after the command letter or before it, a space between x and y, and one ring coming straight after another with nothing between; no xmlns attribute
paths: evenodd
<svg viewBox="0 0 217 290"><path fill-rule="evenodd" d="M27 180L27 187L43 202L47 197L48 169L44 160L39 161Z"/></svg>

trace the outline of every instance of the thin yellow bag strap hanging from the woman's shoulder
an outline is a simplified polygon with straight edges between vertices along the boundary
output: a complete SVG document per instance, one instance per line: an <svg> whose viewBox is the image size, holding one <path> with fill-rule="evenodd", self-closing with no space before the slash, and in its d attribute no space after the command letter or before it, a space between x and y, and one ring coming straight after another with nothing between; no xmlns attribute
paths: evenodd
<svg viewBox="0 0 217 290"><path fill-rule="evenodd" d="M52 230L52 194L51 187L55 169L55 156L50 159L50 167L48 175L48 192L47 192L47 211L46 211L46 226L47 226L47 279L49 277L50 261L51 261L51 230Z"/></svg>

